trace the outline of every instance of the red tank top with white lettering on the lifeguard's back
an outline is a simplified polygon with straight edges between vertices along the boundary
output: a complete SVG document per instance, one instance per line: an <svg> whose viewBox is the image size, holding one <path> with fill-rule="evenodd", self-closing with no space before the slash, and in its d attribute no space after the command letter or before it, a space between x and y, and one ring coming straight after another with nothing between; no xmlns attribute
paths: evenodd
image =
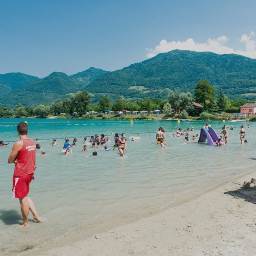
<svg viewBox="0 0 256 256"><path fill-rule="evenodd" d="M14 175L18 177L34 172L36 166L36 145L34 140L30 138L20 140L23 141L23 147L16 156L18 163L14 167Z"/></svg>

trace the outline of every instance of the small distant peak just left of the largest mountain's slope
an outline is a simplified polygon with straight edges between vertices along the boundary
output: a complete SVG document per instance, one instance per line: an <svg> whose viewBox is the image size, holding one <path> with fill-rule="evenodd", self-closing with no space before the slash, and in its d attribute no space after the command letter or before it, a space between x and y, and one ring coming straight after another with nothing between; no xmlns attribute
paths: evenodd
<svg viewBox="0 0 256 256"><path fill-rule="evenodd" d="M90 84L97 78L104 76L105 74L109 73L110 71L106 71L100 68L89 68L85 71L79 72L77 74L71 75L69 77L76 78L80 81L86 83L86 85Z"/></svg>

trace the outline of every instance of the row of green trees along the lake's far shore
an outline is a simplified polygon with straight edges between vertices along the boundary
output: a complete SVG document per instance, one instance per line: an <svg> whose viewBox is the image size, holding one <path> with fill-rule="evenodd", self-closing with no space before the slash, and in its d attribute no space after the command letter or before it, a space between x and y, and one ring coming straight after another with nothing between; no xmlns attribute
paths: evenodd
<svg viewBox="0 0 256 256"><path fill-rule="evenodd" d="M203 105L203 108L196 110L193 102ZM180 89L174 89L169 92L167 100L159 98L139 100L117 99L111 104L110 99L104 96L98 101L98 104L91 104L91 94L84 90L73 94L70 99L57 100L51 105L40 104L35 107L24 107L22 104L18 104L14 109L3 106L0 107L0 117L38 116L43 118L50 114L57 116L62 113L71 116L74 112L83 116L92 111L104 113L105 110L152 111L156 109L163 110L167 116L172 116L179 109L181 111L180 117L186 118L188 115L195 116L201 112L240 112L240 107L247 102L250 101L246 99L229 100L221 89L216 98L214 86L209 84L207 80L201 80L196 84L194 98L190 92L181 92Z"/></svg>

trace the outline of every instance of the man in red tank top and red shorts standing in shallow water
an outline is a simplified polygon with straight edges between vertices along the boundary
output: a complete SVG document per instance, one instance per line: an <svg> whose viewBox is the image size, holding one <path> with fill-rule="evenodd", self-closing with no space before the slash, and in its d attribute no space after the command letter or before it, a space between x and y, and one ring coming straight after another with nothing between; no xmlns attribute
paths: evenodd
<svg viewBox="0 0 256 256"><path fill-rule="evenodd" d="M12 197L20 199L20 208L23 218L22 227L28 227L29 210L34 216L35 222L41 222L36 213L36 208L28 197L29 184L34 179L36 166L36 145L34 140L28 138L28 124L20 122L17 126L20 140L17 140L12 147L8 163L14 163Z"/></svg>

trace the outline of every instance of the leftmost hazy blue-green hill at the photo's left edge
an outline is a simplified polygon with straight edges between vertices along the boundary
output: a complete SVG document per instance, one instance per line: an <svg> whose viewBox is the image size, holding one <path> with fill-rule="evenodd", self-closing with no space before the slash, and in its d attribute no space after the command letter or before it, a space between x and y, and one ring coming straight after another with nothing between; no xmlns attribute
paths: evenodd
<svg viewBox="0 0 256 256"><path fill-rule="evenodd" d="M24 84L28 84L38 79L39 78L36 76L29 76L23 73L0 74L0 95L12 92Z"/></svg>

